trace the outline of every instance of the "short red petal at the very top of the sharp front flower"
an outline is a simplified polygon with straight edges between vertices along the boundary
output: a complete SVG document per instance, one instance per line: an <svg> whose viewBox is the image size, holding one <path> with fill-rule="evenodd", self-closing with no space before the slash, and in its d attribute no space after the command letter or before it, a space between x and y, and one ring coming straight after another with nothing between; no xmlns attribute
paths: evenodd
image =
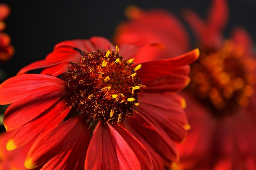
<svg viewBox="0 0 256 170"><path fill-rule="evenodd" d="M89 39L95 49L115 50L116 47L104 37L92 37Z"/></svg>

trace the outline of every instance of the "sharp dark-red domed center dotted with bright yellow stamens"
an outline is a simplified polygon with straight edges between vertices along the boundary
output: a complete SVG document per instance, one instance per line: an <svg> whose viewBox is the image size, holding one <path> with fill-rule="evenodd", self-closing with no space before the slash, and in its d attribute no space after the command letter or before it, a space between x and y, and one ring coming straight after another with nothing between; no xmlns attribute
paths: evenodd
<svg viewBox="0 0 256 170"><path fill-rule="evenodd" d="M123 61L113 50L81 52L78 63L71 63L67 79L71 104L88 122L119 123L136 112L138 92L145 87L131 67L134 59Z"/></svg>

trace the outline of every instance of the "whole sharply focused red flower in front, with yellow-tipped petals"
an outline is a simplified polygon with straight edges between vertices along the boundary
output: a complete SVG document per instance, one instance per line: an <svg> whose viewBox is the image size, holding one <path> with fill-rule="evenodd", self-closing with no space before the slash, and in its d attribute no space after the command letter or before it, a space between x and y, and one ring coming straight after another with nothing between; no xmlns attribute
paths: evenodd
<svg viewBox="0 0 256 170"><path fill-rule="evenodd" d="M177 161L187 120L175 92L199 52L134 64L142 49L102 37L64 41L3 82L0 104L12 103L4 125L15 130L7 149L35 139L25 166L54 170L163 169ZM37 68L44 70L23 74Z"/></svg>

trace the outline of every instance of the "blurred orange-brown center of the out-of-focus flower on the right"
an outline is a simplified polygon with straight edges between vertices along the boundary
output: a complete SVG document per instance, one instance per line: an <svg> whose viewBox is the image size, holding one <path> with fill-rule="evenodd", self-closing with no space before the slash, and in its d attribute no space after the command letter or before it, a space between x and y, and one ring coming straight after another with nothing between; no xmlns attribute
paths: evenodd
<svg viewBox="0 0 256 170"><path fill-rule="evenodd" d="M248 105L254 93L255 67L256 62L244 56L240 46L226 41L220 51L201 50L198 61L191 65L188 89L214 115L228 115L238 106Z"/></svg>

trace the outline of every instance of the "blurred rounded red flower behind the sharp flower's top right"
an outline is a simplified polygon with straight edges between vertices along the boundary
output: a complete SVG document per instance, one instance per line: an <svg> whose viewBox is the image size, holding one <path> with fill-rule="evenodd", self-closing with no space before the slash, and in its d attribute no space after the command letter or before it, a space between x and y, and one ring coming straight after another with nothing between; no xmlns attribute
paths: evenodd
<svg viewBox="0 0 256 170"><path fill-rule="evenodd" d="M161 49L150 47L142 50L137 62L167 59L189 51L188 34L173 14L160 9L143 11L130 6L126 10L126 16L130 20L118 25L113 37L116 44L141 46L152 41L162 44Z"/></svg>

